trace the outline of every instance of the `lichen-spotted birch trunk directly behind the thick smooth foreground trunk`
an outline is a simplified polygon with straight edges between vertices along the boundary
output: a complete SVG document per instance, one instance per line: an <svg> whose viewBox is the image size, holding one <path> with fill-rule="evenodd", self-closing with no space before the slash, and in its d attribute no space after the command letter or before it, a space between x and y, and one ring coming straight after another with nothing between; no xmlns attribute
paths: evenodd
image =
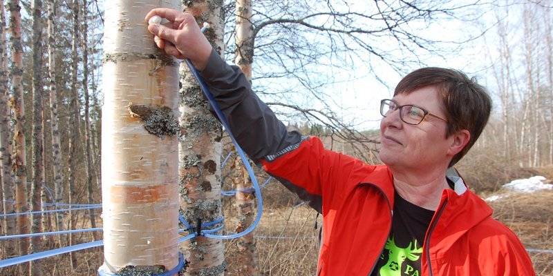
<svg viewBox="0 0 553 276"><path fill-rule="evenodd" d="M223 52L222 1L182 1L185 12L198 23L208 22L206 37L220 54ZM222 217L221 212L221 135L220 123L207 110L207 103L185 63L181 63L182 102L180 110L179 180L182 216L197 224ZM223 275L225 246L221 239L196 237L182 244L189 253L185 275Z"/></svg>

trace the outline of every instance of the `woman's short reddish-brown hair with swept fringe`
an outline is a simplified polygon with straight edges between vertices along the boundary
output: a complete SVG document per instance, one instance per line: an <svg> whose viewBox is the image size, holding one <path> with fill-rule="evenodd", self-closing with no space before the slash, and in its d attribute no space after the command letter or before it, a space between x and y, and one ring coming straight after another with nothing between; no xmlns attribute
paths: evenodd
<svg viewBox="0 0 553 276"><path fill-rule="evenodd" d="M487 124L491 112L491 99L484 86L469 79L465 73L447 68L421 68L406 75L397 83L393 95L405 94L435 86L438 89L447 119L446 137L459 130L469 130L469 143L451 159L455 165L474 145Z"/></svg>

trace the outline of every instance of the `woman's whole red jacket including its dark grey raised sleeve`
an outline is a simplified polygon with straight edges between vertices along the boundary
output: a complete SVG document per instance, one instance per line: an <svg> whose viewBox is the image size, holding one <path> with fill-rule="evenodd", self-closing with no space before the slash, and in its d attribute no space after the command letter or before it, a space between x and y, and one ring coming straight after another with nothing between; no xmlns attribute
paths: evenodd
<svg viewBox="0 0 553 276"><path fill-rule="evenodd" d="M369 275L391 229L393 177L288 132L250 81L215 51L202 72L234 137L250 158L323 214L318 275ZM516 235L460 177L444 190L422 255L422 275L534 275Z"/></svg>

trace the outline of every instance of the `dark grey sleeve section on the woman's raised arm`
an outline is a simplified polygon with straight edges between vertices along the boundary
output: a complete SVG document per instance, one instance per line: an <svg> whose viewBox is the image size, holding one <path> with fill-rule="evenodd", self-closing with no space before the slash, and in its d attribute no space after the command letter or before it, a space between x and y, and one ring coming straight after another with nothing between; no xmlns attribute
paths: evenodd
<svg viewBox="0 0 553 276"><path fill-rule="evenodd" d="M288 132L274 112L252 92L251 83L237 66L229 66L215 50L200 73L223 111L241 148L259 165L301 143L299 132ZM210 107L211 108L211 107Z"/></svg>

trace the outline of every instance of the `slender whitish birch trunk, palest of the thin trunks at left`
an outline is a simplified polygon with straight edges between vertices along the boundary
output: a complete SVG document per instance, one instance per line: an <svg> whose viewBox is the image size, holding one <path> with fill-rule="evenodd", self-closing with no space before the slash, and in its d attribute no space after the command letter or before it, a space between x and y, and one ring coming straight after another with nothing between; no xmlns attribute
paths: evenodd
<svg viewBox="0 0 553 276"><path fill-rule="evenodd" d="M55 25L56 3L55 0L48 0L48 73L50 77L50 122L52 135L52 167L54 173L54 201L59 204L64 200L64 186L62 183L62 155L59 146L59 127L57 115L57 81L56 81L56 52L55 52ZM55 213L56 230L64 230L64 214L61 212ZM66 239L62 239L61 235L57 236L60 246L65 246Z"/></svg>

